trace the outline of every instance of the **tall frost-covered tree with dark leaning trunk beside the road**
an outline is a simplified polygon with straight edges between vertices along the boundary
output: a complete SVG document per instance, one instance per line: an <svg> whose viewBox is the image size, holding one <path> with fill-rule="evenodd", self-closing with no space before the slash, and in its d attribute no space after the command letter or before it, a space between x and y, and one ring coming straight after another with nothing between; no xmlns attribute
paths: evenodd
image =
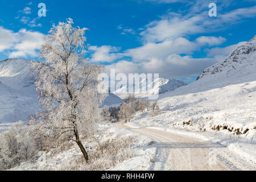
<svg viewBox="0 0 256 182"><path fill-rule="evenodd" d="M76 142L88 162L81 138L88 137L100 119L103 95L97 92L97 77L104 67L88 63L87 28L72 24L71 18L53 24L40 50L41 61L31 63L31 68L44 113L39 121L50 123L48 130L62 143Z"/></svg>

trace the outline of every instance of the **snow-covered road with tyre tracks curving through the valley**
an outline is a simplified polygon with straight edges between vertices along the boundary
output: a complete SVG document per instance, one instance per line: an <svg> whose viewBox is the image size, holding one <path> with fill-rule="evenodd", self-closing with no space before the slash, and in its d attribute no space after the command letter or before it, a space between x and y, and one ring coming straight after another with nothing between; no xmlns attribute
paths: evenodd
<svg viewBox="0 0 256 182"><path fill-rule="evenodd" d="M255 170L255 166L218 143L151 128L132 128L122 123L114 126L155 140L151 146L156 152L150 170Z"/></svg>

